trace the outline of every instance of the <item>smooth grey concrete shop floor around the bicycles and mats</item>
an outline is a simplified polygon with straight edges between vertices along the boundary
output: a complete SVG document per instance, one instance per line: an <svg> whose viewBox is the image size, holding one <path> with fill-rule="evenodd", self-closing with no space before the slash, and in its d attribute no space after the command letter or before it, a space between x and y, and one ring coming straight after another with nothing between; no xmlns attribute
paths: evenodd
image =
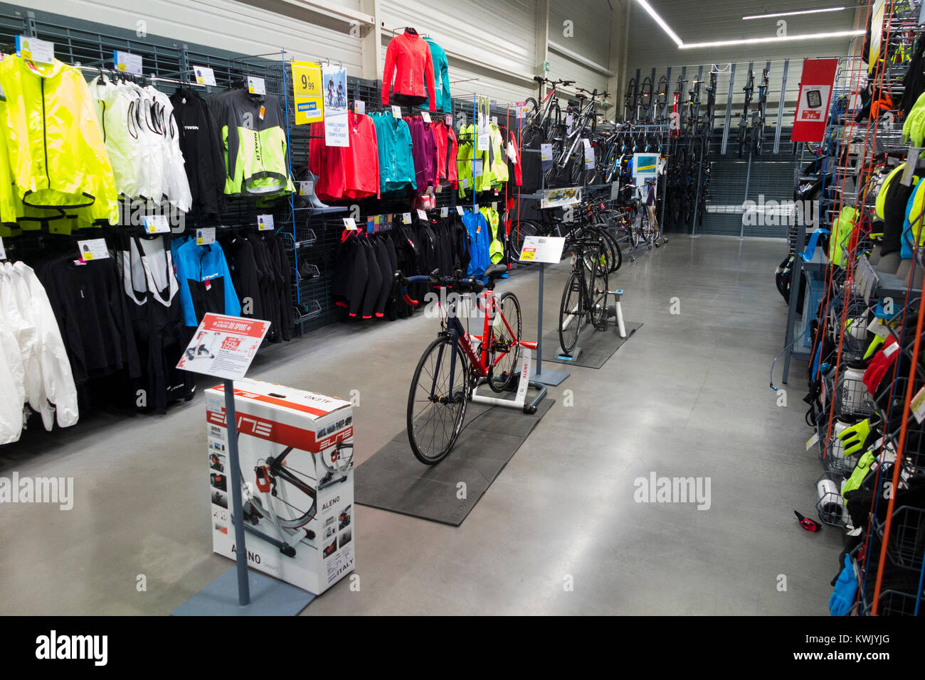
<svg viewBox="0 0 925 680"><path fill-rule="evenodd" d="M616 283L626 318L645 325L602 369L570 367L549 388L557 403L462 527L355 506L360 589L342 580L305 613L828 613L840 536L809 534L793 514L815 516L820 474L805 451L804 368L792 371L788 407L768 388L784 248L674 237L627 261ZM548 270L550 322L566 274L567 263ZM536 280L518 272L499 285L520 297L528 339ZM335 325L269 349L251 375L360 390L362 464L404 427L411 373L434 332L423 315ZM0 613L166 614L228 569L211 553L203 407L197 395L166 417L98 414L0 449L0 476L76 486L70 512L0 511ZM709 477L711 507L635 503L634 480L653 471Z"/></svg>

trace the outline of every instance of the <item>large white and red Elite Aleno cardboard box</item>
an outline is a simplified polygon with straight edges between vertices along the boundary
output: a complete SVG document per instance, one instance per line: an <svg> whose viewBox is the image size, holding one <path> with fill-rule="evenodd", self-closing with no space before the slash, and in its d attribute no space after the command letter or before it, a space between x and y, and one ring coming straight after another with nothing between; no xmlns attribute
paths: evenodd
<svg viewBox="0 0 925 680"><path fill-rule="evenodd" d="M237 556L228 484L237 473L248 565L320 594L354 568L351 403L258 380L234 385L238 471L224 389L205 393L213 550Z"/></svg>

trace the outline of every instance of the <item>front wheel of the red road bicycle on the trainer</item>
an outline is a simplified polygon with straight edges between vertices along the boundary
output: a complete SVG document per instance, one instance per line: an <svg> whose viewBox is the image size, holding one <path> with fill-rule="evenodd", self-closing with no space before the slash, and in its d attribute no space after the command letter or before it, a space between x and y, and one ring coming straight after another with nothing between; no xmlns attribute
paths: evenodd
<svg viewBox="0 0 925 680"><path fill-rule="evenodd" d="M469 400L465 354L441 335L424 350L408 394L406 426L414 457L425 465L443 460L456 443Z"/></svg>

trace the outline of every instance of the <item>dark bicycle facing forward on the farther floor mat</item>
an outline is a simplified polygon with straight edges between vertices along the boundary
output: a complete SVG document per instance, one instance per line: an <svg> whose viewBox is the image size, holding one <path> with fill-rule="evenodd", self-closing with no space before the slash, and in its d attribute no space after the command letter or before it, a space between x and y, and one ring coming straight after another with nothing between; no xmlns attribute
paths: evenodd
<svg viewBox="0 0 925 680"><path fill-rule="evenodd" d="M588 272L584 265L589 256L591 261L598 262L598 254L604 248L603 239L576 239L569 245L573 249L572 274L565 282L559 307L559 344L566 354L578 344L583 321L596 329L606 326L608 294L607 270L598 265Z"/></svg>

